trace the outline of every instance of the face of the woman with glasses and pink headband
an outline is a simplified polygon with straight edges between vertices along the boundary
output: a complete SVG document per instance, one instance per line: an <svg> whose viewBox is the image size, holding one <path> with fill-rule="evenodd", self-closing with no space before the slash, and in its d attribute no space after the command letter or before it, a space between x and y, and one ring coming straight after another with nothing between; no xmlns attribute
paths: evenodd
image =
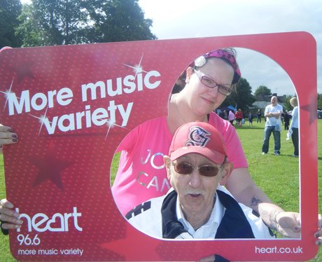
<svg viewBox="0 0 322 262"><path fill-rule="evenodd" d="M225 95L218 92L218 88L209 88L201 83L200 78L192 68L187 69L187 84L183 89L190 109L198 116L207 114L217 109L225 100ZM218 58L209 58L207 63L197 69L216 83L230 85L234 77L234 69Z"/></svg>

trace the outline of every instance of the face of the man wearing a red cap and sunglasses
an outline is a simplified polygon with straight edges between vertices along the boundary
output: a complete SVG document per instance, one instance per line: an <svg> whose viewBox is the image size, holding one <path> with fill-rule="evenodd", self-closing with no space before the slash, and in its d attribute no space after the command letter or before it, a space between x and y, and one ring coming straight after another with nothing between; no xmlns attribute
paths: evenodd
<svg viewBox="0 0 322 262"><path fill-rule="evenodd" d="M208 212L214 206L214 194L218 184L225 184L223 177L227 177L227 170L219 170L215 177L205 177L200 174L196 167L212 165L221 167L211 162L208 158L197 153L190 153L174 160L174 163L188 163L195 169L191 174L179 174L175 171L174 165L168 168L170 183L178 193L181 209L184 214Z"/></svg>

